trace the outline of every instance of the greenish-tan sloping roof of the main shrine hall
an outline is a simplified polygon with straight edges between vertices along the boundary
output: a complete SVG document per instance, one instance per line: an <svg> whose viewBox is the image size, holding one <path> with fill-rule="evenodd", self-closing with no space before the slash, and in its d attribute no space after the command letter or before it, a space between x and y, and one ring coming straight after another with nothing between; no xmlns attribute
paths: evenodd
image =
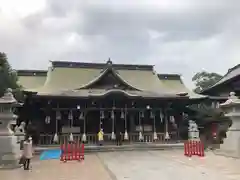
<svg viewBox="0 0 240 180"><path fill-rule="evenodd" d="M109 66L109 67L108 67ZM156 74L151 65L122 65L101 63L52 62L44 85L26 91L37 92L39 95L91 95L93 92L83 90L89 84L98 81L105 72L113 69L122 82L136 91L125 92L128 95L152 97L180 97L183 94L194 99L205 96L188 90L177 74ZM96 90L97 94L106 94L109 90ZM138 92L137 92L138 91ZM67 96L67 95L66 95Z"/></svg>

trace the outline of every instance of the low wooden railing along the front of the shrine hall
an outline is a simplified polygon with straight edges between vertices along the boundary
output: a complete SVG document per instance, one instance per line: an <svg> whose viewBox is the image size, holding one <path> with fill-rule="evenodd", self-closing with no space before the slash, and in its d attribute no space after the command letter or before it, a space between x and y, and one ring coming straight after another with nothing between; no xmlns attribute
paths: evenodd
<svg viewBox="0 0 240 180"><path fill-rule="evenodd" d="M180 139L175 132L169 133L170 139L166 140L164 133L157 133L158 139L154 141L153 133L144 133L143 134L143 141L148 143L174 143L178 142ZM122 143L129 144L129 143L137 143L139 141L139 134L138 133L129 133L129 140L124 140L124 134L121 135ZM41 134L39 137L38 145L59 145L69 140L69 135L60 135L59 141L56 143L53 141L53 134ZM73 139L75 142L81 142L81 134L73 134ZM98 143L97 134L87 134L87 144L95 145ZM111 139L111 134L104 134L104 144L115 144L115 142Z"/></svg>

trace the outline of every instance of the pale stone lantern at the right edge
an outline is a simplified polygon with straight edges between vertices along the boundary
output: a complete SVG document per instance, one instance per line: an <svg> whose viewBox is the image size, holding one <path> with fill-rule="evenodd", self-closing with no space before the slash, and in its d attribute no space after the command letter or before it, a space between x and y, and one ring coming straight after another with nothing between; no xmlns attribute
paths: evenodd
<svg viewBox="0 0 240 180"><path fill-rule="evenodd" d="M224 143L220 146L218 153L230 156L240 157L240 99L235 96L235 93L230 93L229 99L220 104L220 107L225 111L225 116L232 120L232 126L227 132L227 137Z"/></svg>

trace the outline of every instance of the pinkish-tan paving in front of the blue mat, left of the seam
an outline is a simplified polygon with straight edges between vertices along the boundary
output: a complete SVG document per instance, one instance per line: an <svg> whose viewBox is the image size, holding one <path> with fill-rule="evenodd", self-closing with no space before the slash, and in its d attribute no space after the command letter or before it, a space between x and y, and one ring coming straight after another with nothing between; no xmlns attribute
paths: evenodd
<svg viewBox="0 0 240 180"><path fill-rule="evenodd" d="M0 170L2 180L111 180L96 155L87 155L84 162L61 163L59 160L32 163L32 170Z"/></svg>

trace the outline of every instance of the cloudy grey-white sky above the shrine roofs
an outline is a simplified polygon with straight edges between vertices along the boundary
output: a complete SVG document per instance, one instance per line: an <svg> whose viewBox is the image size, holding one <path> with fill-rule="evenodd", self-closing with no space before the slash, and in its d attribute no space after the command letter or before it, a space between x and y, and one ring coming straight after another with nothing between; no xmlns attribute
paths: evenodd
<svg viewBox="0 0 240 180"><path fill-rule="evenodd" d="M155 65L190 88L240 63L239 0L0 0L0 52L14 69L49 61Z"/></svg>

